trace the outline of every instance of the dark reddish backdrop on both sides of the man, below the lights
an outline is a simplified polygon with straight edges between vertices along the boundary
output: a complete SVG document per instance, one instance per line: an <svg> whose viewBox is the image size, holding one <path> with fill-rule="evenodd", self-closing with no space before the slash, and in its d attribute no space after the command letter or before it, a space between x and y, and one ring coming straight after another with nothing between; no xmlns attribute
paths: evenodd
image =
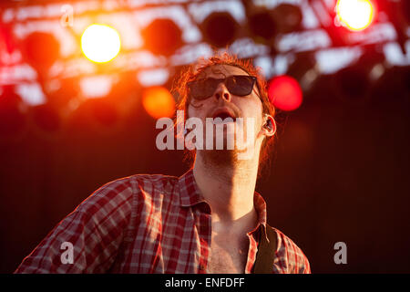
<svg viewBox="0 0 410 292"><path fill-rule="evenodd" d="M302 248L313 273L409 273L409 72L368 99L340 98L331 78L277 116L271 172L257 191L268 222ZM182 151L158 151L155 120L137 102L117 128L77 114L47 133L0 143L0 272L11 273L99 186L136 173L181 175ZM347 245L335 265L333 245Z"/></svg>

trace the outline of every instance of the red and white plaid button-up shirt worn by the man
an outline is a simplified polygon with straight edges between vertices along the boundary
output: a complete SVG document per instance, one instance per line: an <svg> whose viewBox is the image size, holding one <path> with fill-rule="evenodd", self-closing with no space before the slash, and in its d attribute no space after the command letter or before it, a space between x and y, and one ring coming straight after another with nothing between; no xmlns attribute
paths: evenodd
<svg viewBox="0 0 410 292"><path fill-rule="evenodd" d="M249 232L251 273L266 204L255 192L258 224ZM272 273L311 273L290 238L278 236ZM107 183L80 203L17 267L15 273L191 273L210 270L210 205L192 170L181 177L138 174ZM64 242L73 263L63 264ZM62 247L63 246L63 247Z"/></svg>

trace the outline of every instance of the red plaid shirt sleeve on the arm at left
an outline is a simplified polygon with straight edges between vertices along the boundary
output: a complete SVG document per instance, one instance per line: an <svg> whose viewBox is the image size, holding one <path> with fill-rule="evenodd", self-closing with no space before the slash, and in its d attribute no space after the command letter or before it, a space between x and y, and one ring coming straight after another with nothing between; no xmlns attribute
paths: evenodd
<svg viewBox="0 0 410 292"><path fill-rule="evenodd" d="M129 179L99 188L46 235L15 273L107 272L127 230L132 190Z"/></svg>

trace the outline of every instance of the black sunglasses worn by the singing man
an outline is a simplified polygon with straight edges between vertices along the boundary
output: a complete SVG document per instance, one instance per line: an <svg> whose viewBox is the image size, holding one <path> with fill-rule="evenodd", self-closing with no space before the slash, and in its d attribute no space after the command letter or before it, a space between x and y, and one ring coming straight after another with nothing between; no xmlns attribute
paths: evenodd
<svg viewBox="0 0 410 292"><path fill-rule="evenodd" d="M233 75L228 78L206 78L188 82L190 96L194 99L208 99L223 82L231 94L244 97L251 94L256 77L249 75Z"/></svg>

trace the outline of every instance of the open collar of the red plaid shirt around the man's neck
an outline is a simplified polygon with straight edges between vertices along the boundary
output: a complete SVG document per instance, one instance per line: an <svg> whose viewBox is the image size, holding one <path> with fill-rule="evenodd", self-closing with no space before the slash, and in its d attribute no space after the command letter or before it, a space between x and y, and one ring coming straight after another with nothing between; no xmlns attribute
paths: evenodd
<svg viewBox="0 0 410 292"><path fill-rule="evenodd" d="M195 182L193 169L190 169L179 177L179 203L182 207L190 207L198 203L206 203L205 198L202 193L200 193L198 184ZM253 205L258 214L258 224L256 224L255 229L253 229L250 234L256 232L260 226L262 226L262 235L266 236L266 203L261 194L256 191L253 196Z"/></svg>

